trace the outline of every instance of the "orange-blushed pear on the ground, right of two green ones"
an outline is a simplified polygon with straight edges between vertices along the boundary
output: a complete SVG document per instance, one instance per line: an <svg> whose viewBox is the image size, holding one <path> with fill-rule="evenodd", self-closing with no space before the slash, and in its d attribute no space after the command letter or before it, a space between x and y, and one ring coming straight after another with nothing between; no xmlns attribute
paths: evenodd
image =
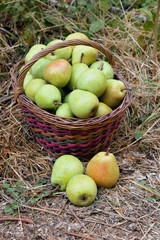
<svg viewBox="0 0 160 240"><path fill-rule="evenodd" d="M112 153L99 152L87 164L86 174L98 187L112 188L119 179L119 167Z"/></svg>

